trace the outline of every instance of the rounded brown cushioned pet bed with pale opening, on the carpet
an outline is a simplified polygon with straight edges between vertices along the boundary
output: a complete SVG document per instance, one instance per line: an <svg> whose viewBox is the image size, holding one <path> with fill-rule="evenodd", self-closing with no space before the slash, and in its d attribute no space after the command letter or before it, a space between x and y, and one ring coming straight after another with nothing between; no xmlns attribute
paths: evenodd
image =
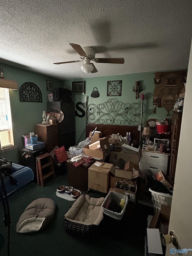
<svg viewBox="0 0 192 256"><path fill-rule="evenodd" d="M19 218L17 233L35 232L46 227L55 216L55 202L50 198L38 198L30 203Z"/></svg>

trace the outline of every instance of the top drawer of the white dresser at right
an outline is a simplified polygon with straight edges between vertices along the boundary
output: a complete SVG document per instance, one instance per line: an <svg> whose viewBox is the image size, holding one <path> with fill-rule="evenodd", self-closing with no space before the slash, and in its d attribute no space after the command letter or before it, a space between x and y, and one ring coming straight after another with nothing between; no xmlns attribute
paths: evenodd
<svg viewBox="0 0 192 256"><path fill-rule="evenodd" d="M141 153L141 163L150 164L155 166L166 167L168 164L169 155L152 153L152 152L142 152Z"/></svg>

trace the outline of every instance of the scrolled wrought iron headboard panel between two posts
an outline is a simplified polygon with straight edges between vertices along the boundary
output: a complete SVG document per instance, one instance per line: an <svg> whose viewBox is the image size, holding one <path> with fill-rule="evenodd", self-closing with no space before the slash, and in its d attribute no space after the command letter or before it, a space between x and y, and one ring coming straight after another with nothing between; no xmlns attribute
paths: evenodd
<svg viewBox="0 0 192 256"><path fill-rule="evenodd" d="M113 98L98 105L89 104L86 117L89 124L138 126L141 123L141 105L125 104Z"/></svg>

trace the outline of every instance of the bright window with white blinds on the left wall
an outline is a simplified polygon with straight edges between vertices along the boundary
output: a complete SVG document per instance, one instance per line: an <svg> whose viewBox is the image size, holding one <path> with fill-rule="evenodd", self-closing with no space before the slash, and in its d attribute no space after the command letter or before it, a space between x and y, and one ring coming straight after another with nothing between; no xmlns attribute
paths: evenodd
<svg viewBox="0 0 192 256"><path fill-rule="evenodd" d="M9 89L0 88L0 146L13 146L13 130L10 111Z"/></svg>

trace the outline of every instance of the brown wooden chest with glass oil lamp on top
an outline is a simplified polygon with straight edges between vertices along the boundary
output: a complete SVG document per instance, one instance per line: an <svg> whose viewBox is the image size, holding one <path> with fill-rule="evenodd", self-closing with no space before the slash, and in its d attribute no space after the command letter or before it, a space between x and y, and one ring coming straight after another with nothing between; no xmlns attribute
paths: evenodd
<svg viewBox="0 0 192 256"><path fill-rule="evenodd" d="M35 125L35 134L38 134L38 141L45 142L45 149L51 152L58 146L58 124L56 125Z"/></svg>

